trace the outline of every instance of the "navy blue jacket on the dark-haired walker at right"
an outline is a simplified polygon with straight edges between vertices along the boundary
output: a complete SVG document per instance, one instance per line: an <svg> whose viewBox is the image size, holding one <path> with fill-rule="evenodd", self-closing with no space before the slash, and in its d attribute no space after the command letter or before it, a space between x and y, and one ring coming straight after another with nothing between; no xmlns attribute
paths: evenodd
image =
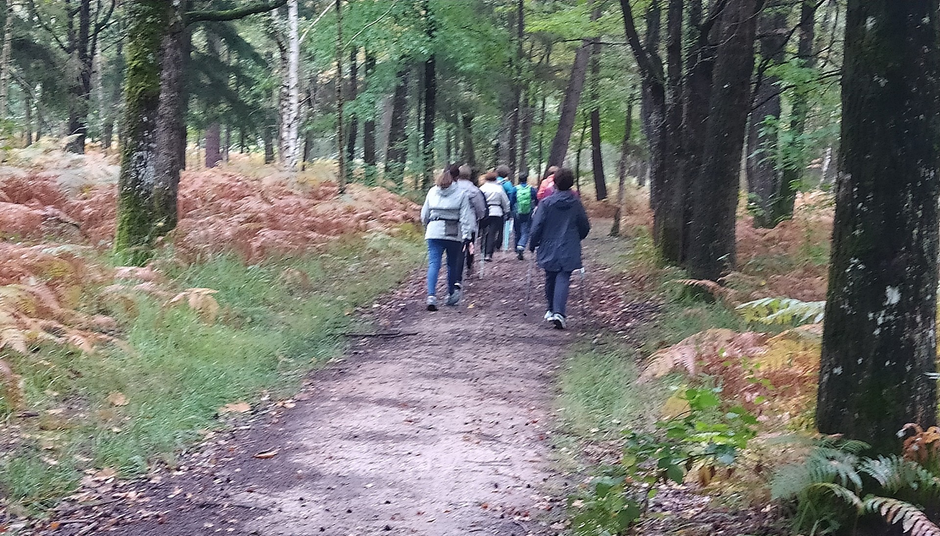
<svg viewBox="0 0 940 536"><path fill-rule="evenodd" d="M571 190L540 201L531 232L529 249L539 247L537 260L542 270L572 272L581 268L581 241L590 232L590 222L581 199Z"/></svg>

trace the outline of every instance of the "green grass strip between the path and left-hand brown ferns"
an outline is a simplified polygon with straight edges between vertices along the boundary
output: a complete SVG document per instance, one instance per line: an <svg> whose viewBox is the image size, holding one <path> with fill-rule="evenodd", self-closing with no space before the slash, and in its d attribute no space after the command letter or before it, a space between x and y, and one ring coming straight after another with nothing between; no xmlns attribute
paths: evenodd
<svg viewBox="0 0 940 536"><path fill-rule="evenodd" d="M120 325L133 352L42 346L5 356L23 376L26 407L39 412L24 420L5 412L6 432L19 439L0 451L8 506L49 508L86 470L112 467L131 477L155 460L172 464L202 434L224 426L220 406L255 402L262 393L289 397L309 370L341 351L337 332L356 322L353 309L396 286L422 254L422 244L404 233L344 238L321 255L257 265L221 256L178 266L169 276L180 288L218 291L217 322L141 294ZM118 316L94 292L86 301ZM126 404L108 401L116 392Z"/></svg>

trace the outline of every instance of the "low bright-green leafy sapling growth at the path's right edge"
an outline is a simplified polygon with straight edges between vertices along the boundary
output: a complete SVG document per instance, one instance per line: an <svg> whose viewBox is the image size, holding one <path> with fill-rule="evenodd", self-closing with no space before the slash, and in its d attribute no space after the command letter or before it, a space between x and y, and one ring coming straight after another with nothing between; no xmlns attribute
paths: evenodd
<svg viewBox="0 0 940 536"><path fill-rule="evenodd" d="M625 433L619 465L606 467L585 493L569 500L574 533L627 534L649 508L658 482L682 483L695 466L733 465L756 434L757 418L740 406L726 407L720 392L684 388L686 412L658 421L654 433Z"/></svg>

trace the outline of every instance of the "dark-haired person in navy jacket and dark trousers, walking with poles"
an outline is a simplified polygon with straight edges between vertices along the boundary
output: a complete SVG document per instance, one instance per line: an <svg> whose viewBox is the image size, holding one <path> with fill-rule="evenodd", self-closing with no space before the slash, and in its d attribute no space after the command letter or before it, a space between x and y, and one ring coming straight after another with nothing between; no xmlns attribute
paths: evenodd
<svg viewBox="0 0 940 536"><path fill-rule="evenodd" d="M539 248L536 259L545 271L545 299L548 302L545 320L556 329L567 325L565 307L572 272L580 270L581 241L590 231L590 222L581 200L574 196L574 174L561 168L555 175L556 192L539 203L532 220L529 250Z"/></svg>

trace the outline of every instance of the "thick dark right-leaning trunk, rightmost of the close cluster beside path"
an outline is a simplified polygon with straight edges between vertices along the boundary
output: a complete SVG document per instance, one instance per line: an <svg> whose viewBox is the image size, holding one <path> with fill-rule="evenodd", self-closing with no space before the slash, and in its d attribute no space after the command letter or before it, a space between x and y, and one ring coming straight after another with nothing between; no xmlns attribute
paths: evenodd
<svg viewBox="0 0 940 536"><path fill-rule="evenodd" d="M751 72L758 0L730 0L722 14L712 94L705 130L705 158L695 183L689 274L716 281L734 268L735 212Z"/></svg>

